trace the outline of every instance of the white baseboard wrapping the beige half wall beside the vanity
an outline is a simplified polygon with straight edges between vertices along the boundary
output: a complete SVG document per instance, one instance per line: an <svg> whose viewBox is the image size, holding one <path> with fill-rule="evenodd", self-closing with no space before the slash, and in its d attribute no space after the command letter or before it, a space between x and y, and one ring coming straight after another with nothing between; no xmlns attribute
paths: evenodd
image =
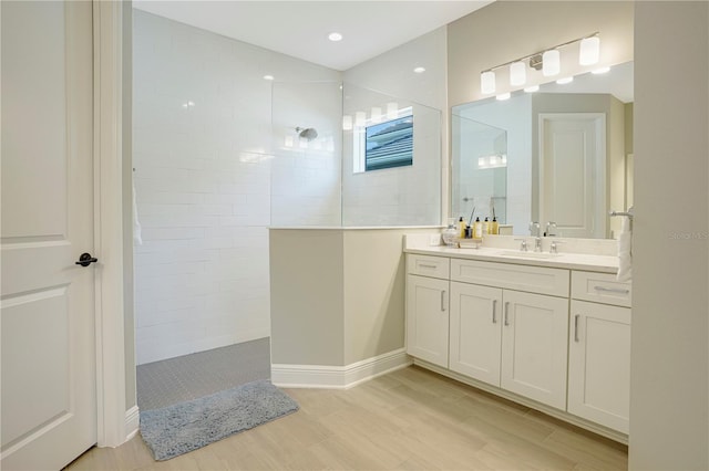
<svg viewBox="0 0 709 471"><path fill-rule="evenodd" d="M347 366L271 365L270 380L284 388L348 389L412 363L400 348Z"/></svg>

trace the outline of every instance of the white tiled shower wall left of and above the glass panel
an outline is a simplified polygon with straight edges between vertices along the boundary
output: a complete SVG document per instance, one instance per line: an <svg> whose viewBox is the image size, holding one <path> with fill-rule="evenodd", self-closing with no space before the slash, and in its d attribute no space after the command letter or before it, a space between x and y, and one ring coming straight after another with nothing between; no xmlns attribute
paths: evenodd
<svg viewBox="0 0 709 471"><path fill-rule="evenodd" d="M263 76L341 77L134 13L136 363L145 364L269 335L271 169L286 164L275 164Z"/></svg>

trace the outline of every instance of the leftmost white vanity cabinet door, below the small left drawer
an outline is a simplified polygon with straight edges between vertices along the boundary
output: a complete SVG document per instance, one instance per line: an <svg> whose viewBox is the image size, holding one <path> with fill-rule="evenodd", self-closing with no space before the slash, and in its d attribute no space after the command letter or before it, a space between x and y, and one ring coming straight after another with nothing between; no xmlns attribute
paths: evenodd
<svg viewBox="0 0 709 471"><path fill-rule="evenodd" d="M448 368L449 282L407 275L407 353Z"/></svg>

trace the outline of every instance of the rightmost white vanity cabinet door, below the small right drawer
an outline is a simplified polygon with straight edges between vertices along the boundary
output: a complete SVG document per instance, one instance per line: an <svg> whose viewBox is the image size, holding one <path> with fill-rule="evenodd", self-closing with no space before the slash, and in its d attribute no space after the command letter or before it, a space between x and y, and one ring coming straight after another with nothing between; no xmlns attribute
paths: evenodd
<svg viewBox="0 0 709 471"><path fill-rule="evenodd" d="M568 411L628 433L630 310L572 301Z"/></svg>

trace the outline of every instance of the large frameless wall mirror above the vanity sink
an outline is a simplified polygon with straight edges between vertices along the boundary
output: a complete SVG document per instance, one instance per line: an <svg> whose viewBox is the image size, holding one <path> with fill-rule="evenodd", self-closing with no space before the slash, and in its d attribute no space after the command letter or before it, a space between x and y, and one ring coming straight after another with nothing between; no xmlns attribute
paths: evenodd
<svg viewBox="0 0 709 471"><path fill-rule="evenodd" d="M451 216L493 216L528 236L614 238L633 206L633 62L572 83L454 106ZM553 228L553 229L552 229Z"/></svg>

